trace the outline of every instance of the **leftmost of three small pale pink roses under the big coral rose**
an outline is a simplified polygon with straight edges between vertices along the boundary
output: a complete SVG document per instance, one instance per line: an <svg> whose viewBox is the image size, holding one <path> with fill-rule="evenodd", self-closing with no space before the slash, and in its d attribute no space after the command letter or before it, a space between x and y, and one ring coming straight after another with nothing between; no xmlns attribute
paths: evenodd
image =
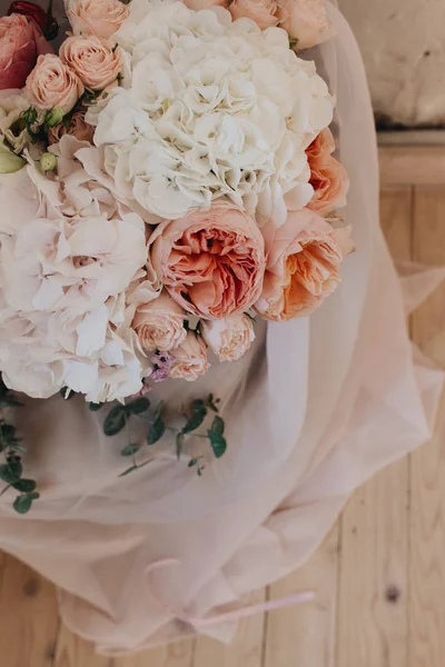
<svg viewBox="0 0 445 667"><path fill-rule="evenodd" d="M171 297L162 293L137 308L131 327L138 335L142 349L168 352L186 339L185 316L182 308Z"/></svg>

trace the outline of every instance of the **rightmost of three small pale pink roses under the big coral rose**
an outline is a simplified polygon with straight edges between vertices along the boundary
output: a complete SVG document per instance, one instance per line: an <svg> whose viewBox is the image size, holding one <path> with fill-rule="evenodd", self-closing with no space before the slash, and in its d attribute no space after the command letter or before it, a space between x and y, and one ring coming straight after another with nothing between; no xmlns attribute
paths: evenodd
<svg viewBox="0 0 445 667"><path fill-rule="evenodd" d="M255 340L251 319L238 312L224 320L201 322L202 338L219 361L237 361Z"/></svg>

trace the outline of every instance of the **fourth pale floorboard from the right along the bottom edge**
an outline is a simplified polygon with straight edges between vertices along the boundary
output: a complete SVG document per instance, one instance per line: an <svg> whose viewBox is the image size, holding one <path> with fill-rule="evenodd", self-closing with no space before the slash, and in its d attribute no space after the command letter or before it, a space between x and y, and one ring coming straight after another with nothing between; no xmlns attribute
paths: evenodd
<svg viewBox="0 0 445 667"><path fill-rule="evenodd" d="M256 591L246 598L246 604L263 603L265 595L265 589ZM263 629L264 616L258 614L239 621L236 638L228 646L200 637L196 641L192 667L260 667Z"/></svg>

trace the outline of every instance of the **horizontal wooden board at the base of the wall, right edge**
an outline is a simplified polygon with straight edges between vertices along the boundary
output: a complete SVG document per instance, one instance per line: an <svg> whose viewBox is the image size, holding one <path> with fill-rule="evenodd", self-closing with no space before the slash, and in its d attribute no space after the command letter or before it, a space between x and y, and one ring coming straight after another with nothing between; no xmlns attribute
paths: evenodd
<svg viewBox="0 0 445 667"><path fill-rule="evenodd" d="M445 146L380 146L382 187L445 185Z"/></svg>

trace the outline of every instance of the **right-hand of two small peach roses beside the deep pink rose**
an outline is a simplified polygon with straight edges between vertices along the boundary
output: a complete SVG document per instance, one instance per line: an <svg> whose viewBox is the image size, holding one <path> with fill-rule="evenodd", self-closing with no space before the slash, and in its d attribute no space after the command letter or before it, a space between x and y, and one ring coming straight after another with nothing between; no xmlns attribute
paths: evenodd
<svg viewBox="0 0 445 667"><path fill-rule="evenodd" d="M103 90L122 69L122 53L98 37L69 37L60 47L60 59L91 90Z"/></svg>

